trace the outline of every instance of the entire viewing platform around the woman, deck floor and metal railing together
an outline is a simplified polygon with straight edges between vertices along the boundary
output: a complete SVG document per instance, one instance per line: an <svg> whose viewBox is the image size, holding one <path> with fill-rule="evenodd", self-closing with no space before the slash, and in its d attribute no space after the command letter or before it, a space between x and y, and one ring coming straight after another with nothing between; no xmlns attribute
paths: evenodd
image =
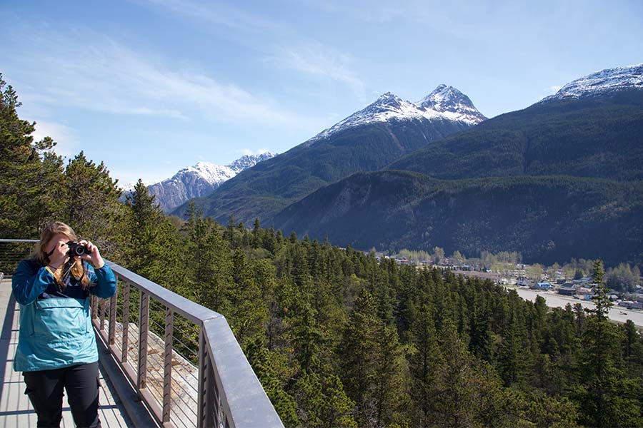
<svg viewBox="0 0 643 428"><path fill-rule="evenodd" d="M20 246L23 250L16 250ZM5 275L31 246L33 241L0 240ZM284 427L223 315L107 263L118 280L116 295L91 300L103 427ZM19 306L5 277L0 428L36 426L22 376L12 367ZM66 397L63 410L61 427L74 427Z"/></svg>

